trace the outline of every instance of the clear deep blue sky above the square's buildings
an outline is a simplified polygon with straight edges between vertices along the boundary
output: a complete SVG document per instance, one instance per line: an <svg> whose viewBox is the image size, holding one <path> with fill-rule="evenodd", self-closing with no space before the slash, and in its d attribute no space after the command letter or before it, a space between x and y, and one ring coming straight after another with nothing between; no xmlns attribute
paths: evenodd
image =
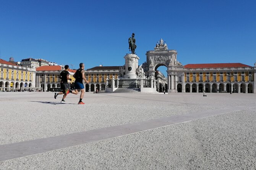
<svg viewBox="0 0 256 170"><path fill-rule="evenodd" d="M0 58L7 61L120 66L133 32L139 64L160 38L183 65L256 61L254 0L0 0L0 11Z"/></svg>

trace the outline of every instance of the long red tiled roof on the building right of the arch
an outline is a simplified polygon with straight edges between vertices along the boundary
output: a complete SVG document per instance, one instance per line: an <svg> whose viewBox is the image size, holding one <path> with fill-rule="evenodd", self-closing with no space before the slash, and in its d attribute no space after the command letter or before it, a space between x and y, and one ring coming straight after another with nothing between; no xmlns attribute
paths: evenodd
<svg viewBox="0 0 256 170"><path fill-rule="evenodd" d="M197 68L223 68L223 67L251 67L241 63L209 63L209 64L186 64L184 68L197 69Z"/></svg>

